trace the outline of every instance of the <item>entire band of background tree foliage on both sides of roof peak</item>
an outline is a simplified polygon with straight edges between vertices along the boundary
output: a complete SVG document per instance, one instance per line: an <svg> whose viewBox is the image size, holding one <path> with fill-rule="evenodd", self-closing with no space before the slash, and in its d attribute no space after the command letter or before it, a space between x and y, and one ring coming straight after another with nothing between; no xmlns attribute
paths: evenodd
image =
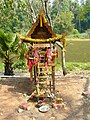
<svg viewBox="0 0 90 120"><path fill-rule="evenodd" d="M90 0L79 2L78 0L54 0L51 6L48 0L48 15L51 16L56 33L71 33L73 28L80 33L90 29ZM35 15L32 15L30 4ZM44 0L1 0L0 28L5 32L26 34L33 24L33 19L38 16L38 10L41 7L45 10L44 5Z"/></svg>

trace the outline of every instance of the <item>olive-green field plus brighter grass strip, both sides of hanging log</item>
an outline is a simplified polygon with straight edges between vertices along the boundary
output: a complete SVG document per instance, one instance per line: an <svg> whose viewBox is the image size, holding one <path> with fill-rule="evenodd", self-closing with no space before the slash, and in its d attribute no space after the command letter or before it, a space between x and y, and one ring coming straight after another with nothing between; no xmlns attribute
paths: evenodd
<svg viewBox="0 0 90 120"><path fill-rule="evenodd" d="M60 51L58 56L56 71L61 68ZM90 71L90 39L67 39L66 68L68 71Z"/></svg>

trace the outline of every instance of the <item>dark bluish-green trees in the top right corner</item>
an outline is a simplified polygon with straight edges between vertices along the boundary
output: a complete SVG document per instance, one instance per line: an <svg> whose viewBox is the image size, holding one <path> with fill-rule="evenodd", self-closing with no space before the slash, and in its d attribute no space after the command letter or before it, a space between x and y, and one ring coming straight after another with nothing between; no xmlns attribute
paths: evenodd
<svg viewBox="0 0 90 120"><path fill-rule="evenodd" d="M80 32L85 32L90 28L90 0L70 0L70 10L74 14L73 23Z"/></svg>

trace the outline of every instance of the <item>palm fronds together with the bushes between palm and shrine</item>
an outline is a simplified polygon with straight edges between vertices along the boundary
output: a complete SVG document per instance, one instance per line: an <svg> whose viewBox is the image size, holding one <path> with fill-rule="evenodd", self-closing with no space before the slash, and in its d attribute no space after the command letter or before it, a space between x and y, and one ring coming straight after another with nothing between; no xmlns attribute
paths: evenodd
<svg viewBox="0 0 90 120"><path fill-rule="evenodd" d="M5 66L11 66L14 69L24 69L25 50L26 45L24 44L18 49L18 38L15 34L5 33L3 30L0 30L0 57Z"/></svg>

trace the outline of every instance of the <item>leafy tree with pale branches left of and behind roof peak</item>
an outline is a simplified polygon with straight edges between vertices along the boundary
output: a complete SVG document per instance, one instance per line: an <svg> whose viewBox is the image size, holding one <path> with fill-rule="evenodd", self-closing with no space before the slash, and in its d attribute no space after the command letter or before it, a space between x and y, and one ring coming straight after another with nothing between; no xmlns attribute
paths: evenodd
<svg viewBox="0 0 90 120"><path fill-rule="evenodd" d="M0 27L6 32L22 32L24 34L35 22L41 7L50 22L49 0L1 0Z"/></svg>

